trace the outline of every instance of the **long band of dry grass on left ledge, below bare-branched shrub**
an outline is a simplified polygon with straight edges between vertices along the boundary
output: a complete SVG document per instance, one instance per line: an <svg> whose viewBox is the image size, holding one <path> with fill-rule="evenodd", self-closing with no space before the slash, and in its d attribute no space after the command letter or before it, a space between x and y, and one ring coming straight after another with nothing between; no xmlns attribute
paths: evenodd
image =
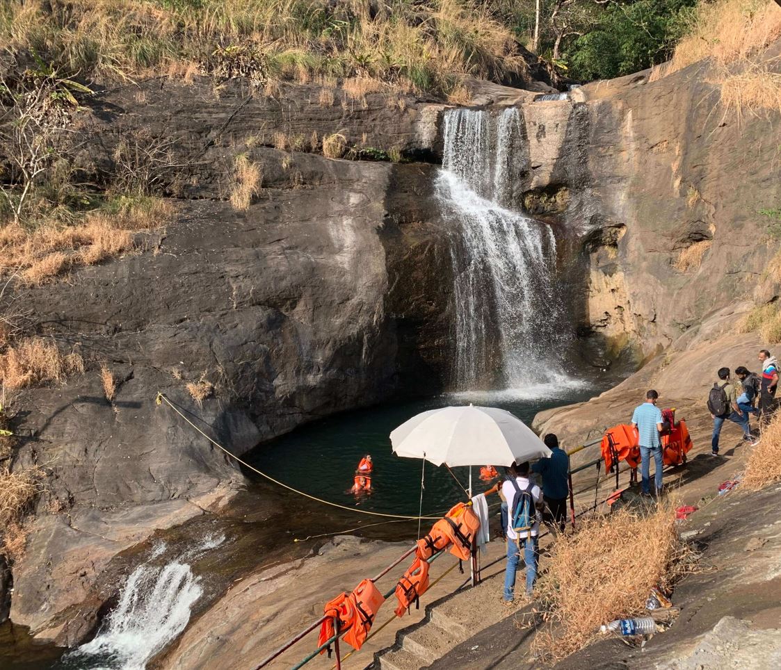
<svg viewBox="0 0 781 670"><path fill-rule="evenodd" d="M41 223L32 231L10 224L0 229L0 274L16 273L38 286L68 270L134 251L133 232L166 223L173 208L143 198L112 210L95 210L70 225Z"/></svg>

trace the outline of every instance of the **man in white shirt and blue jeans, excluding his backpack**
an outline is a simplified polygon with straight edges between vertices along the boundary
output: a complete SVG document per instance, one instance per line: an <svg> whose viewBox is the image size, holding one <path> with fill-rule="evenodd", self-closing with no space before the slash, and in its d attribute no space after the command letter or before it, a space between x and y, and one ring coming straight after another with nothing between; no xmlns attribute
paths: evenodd
<svg viewBox="0 0 781 670"><path fill-rule="evenodd" d="M537 579L537 535L540 533L540 522L534 520L530 532L521 537L512 528L512 516L515 511L515 496L518 491L529 490L534 499L534 504L538 513L541 513L544 502L542 491L536 484L532 484L529 479L529 463L521 465L510 465L507 469L508 479L501 485L501 494L505 497L508 507L509 522L507 524L507 569L505 570L505 592L502 598L505 603L512 603L513 590L515 590L515 572L518 570L518 563L523 551L523 561L526 563L526 595L532 594L534 580ZM515 482L515 486L513 486Z"/></svg>

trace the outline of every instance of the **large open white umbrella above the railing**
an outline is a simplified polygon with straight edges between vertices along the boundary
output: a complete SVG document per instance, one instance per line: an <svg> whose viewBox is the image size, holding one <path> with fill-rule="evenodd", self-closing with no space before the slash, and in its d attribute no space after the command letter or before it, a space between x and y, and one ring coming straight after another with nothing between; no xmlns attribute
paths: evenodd
<svg viewBox="0 0 781 670"><path fill-rule="evenodd" d="M444 407L415 415L391 433L394 454L434 465L511 465L551 455L533 430L504 409Z"/></svg>

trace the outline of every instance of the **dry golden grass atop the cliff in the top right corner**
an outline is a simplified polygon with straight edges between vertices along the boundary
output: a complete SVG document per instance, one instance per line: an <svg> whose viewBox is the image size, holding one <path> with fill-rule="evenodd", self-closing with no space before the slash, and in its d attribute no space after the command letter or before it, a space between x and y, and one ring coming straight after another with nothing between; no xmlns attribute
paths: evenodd
<svg viewBox="0 0 781 670"><path fill-rule="evenodd" d="M781 7L769 0L717 0L697 5L689 34L676 46L669 66L651 80L702 59L714 66L709 77L726 109L781 112L781 75L772 72L765 49L781 37Z"/></svg>

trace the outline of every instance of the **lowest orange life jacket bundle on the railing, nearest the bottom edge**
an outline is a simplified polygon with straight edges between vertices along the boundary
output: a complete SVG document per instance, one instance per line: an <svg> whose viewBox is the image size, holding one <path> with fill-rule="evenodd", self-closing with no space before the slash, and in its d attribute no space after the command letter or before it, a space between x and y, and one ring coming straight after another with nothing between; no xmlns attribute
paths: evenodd
<svg viewBox="0 0 781 670"><path fill-rule="evenodd" d="M360 649L366 642L374 617L383 602L385 602L383 594L377 590L371 579L364 579L349 595L340 593L332 601L328 601L323 607L323 614L328 618L320 624L318 647L335 634L344 633L342 639L356 651ZM338 622L338 631L333 627L334 619ZM320 654L326 650L330 655L330 647L320 650Z"/></svg>

